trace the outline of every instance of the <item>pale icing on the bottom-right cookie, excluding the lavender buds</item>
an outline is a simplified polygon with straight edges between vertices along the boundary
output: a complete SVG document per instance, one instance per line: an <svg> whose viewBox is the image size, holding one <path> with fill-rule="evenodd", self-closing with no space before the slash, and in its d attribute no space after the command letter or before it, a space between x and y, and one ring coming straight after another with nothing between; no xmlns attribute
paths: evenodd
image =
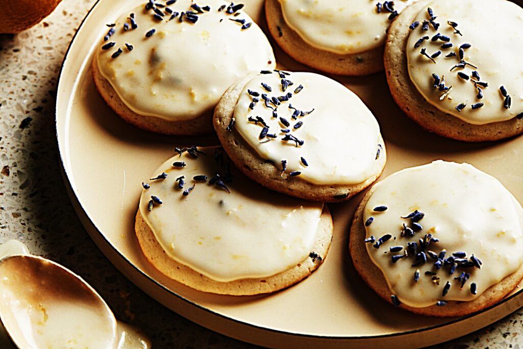
<svg viewBox="0 0 523 349"><path fill-rule="evenodd" d="M382 205L388 209L373 211ZM412 224L401 217L414 210L425 213L418 222L423 230L414 237L401 237L402 224ZM438 300L475 299L488 287L517 271L523 263L523 209L497 179L469 164L436 161L391 175L379 183L369 198L363 221L369 217L374 220L366 228L367 238L392 235L379 249L367 243L369 256L383 272L392 293L411 307L431 306ZM481 269L458 267L450 275L448 266L438 271L434 267L435 260L430 257L426 264L418 266L412 266L415 263L413 256L391 262L391 255L402 254L405 249L391 253L390 247L406 247L407 242L418 242L427 233L439 239L427 250L439 254L445 249L446 258L459 251L466 252L468 259L473 254L483 263ZM417 268L420 277L416 283L414 272ZM426 271L437 272L439 285L425 275ZM454 279L461 272L470 274L463 289ZM447 281L451 287L448 294L442 296ZM477 285L476 295L470 291L472 283Z"/></svg>

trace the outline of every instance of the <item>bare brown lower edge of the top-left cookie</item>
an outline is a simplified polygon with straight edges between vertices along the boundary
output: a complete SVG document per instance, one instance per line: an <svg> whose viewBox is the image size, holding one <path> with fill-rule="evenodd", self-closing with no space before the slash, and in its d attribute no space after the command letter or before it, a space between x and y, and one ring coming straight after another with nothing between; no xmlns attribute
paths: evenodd
<svg viewBox="0 0 523 349"><path fill-rule="evenodd" d="M98 69L96 54L92 64L93 79L96 88L105 102L123 120L132 123L146 131L175 134L177 136L196 136L197 134L212 133L212 110L204 112L202 116L187 121L169 121L161 118L143 116L135 113L125 105L109 81L103 77Z"/></svg>

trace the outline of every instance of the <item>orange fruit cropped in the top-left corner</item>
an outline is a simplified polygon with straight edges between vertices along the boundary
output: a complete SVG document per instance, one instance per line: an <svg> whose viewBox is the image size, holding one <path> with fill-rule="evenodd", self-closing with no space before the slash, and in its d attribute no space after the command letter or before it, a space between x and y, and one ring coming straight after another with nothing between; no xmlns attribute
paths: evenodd
<svg viewBox="0 0 523 349"><path fill-rule="evenodd" d="M0 33L16 34L37 25L61 0L0 0Z"/></svg>

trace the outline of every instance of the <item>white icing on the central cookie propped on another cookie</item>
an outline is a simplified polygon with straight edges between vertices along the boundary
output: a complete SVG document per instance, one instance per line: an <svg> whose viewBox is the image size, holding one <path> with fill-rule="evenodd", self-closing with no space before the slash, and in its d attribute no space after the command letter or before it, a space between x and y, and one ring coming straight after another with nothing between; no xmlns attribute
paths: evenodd
<svg viewBox="0 0 523 349"><path fill-rule="evenodd" d="M313 184L357 184L373 174L376 162L380 129L372 112L353 92L338 82L319 74L290 73L287 80L293 82L285 92L282 91L281 78L277 73L261 74L252 78L242 91L234 109L235 128L243 139L263 159L273 161L281 168L281 161L287 161L287 173L300 171L300 178ZM261 83L272 88L267 92ZM295 93L302 85L303 89ZM248 90L266 93L268 98L291 93L288 102L278 106L278 117L272 117L272 109L267 108L261 97L254 109L249 109L253 96ZM313 112L303 117L292 118L292 105L302 111ZM272 108L274 104L270 105ZM263 125L248 121L249 117L260 116L269 126L268 133L277 138L260 139ZM286 127L280 117L290 122ZM294 129L298 122L303 126ZM282 141L286 133L281 129L290 129L293 136L304 141L295 147L293 141ZM383 147L383 144L381 144ZM380 152L383 148L380 149ZM305 159L309 166L301 161Z"/></svg>

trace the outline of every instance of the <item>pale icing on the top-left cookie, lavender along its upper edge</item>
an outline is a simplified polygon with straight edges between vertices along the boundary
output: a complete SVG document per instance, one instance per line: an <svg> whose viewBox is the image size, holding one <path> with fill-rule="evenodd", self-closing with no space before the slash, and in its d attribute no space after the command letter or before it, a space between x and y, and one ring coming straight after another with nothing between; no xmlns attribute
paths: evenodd
<svg viewBox="0 0 523 349"><path fill-rule="evenodd" d="M168 14L158 21L153 10L146 12L143 5L127 10L116 20L115 34L101 41L96 51L100 73L137 114L181 121L212 111L236 80L276 64L265 34L247 14L240 10L235 17L226 10L218 12L221 5L229 4L207 1L210 11L199 14L195 24L180 23L179 16L169 21ZM194 11L190 5L189 0L178 0L168 7L179 13ZM138 28L124 31L131 13ZM245 19L252 25L242 30L231 19ZM146 38L150 29L156 32ZM109 42L116 44L102 50ZM133 50L128 51L125 43ZM111 58L118 48L123 52Z"/></svg>

